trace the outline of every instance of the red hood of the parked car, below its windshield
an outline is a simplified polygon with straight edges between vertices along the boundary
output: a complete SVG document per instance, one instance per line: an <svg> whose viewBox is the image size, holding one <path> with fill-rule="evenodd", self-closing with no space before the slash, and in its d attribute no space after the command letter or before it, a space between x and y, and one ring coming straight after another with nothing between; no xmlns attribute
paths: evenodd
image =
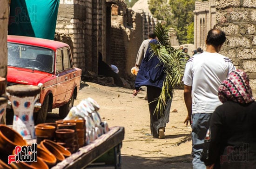
<svg viewBox="0 0 256 169"><path fill-rule="evenodd" d="M44 83L53 78L52 74L32 69L8 67L7 81L10 83L35 85Z"/></svg>

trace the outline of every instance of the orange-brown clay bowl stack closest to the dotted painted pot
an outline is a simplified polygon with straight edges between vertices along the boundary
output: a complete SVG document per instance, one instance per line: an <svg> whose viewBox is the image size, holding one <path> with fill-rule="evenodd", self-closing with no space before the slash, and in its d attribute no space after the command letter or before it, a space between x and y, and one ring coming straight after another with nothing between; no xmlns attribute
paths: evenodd
<svg viewBox="0 0 256 169"><path fill-rule="evenodd" d="M54 125L39 124L35 126L36 143L44 139L54 140L56 127Z"/></svg>

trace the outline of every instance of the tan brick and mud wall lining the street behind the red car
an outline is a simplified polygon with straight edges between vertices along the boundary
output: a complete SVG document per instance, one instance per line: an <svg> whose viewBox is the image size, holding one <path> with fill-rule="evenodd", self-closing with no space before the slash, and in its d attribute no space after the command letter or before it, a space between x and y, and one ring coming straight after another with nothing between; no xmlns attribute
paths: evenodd
<svg viewBox="0 0 256 169"><path fill-rule="evenodd" d="M60 0L55 40L70 45L74 65L83 74L97 74L101 52L103 61L115 64L120 76L128 78L155 22L152 16L128 9L124 0Z"/></svg>

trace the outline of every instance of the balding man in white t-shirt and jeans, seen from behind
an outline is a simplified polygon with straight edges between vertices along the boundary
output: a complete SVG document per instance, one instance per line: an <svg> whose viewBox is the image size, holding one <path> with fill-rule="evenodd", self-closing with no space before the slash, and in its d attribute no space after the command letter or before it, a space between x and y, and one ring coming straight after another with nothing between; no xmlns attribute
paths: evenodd
<svg viewBox="0 0 256 169"><path fill-rule="evenodd" d="M218 98L220 84L235 69L228 57L219 54L225 40L223 31L210 30L206 39L206 51L188 60L182 80L184 100L188 109L184 123L191 124L192 120L194 169L206 169L201 161L201 154L209 119L215 108L222 104Z"/></svg>

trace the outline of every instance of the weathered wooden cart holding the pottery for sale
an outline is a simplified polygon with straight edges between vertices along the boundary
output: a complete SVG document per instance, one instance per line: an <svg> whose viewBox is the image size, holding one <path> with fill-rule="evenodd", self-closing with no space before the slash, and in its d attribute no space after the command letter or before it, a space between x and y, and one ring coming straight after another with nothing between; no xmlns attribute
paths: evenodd
<svg viewBox="0 0 256 169"><path fill-rule="evenodd" d="M89 165L113 166L121 169L121 145L124 127L111 127L93 143L81 147L77 152L57 163L52 169L83 169Z"/></svg>

